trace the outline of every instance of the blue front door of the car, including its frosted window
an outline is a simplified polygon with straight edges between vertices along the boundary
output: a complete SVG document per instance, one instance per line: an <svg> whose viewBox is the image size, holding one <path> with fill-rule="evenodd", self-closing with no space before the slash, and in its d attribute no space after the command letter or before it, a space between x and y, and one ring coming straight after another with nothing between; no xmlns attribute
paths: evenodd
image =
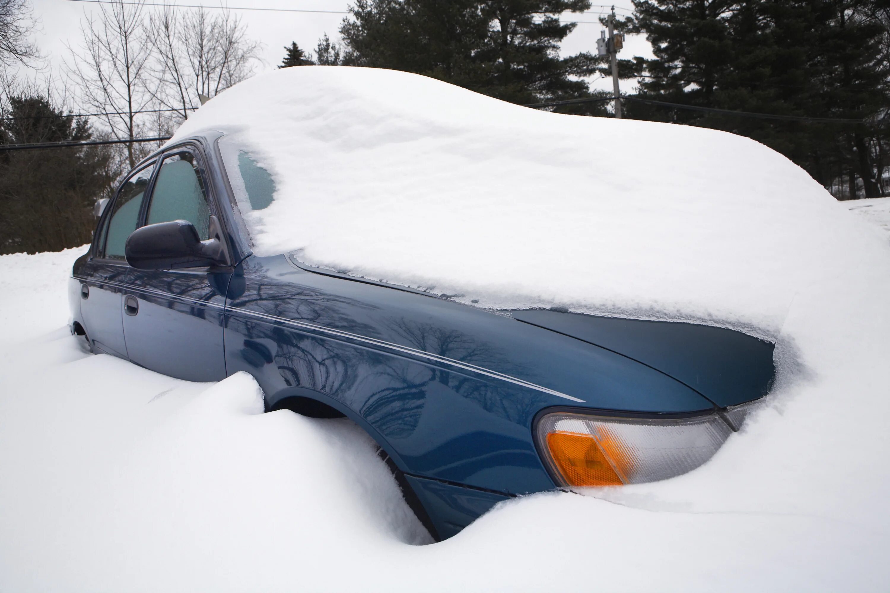
<svg viewBox="0 0 890 593"><path fill-rule="evenodd" d="M143 208L144 224L188 220L210 238L215 212L198 147L167 151ZM222 237L221 237L222 238ZM131 268L124 294L129 358L152 371L188 381L225 378L223 311L231 270Z"/></svg>

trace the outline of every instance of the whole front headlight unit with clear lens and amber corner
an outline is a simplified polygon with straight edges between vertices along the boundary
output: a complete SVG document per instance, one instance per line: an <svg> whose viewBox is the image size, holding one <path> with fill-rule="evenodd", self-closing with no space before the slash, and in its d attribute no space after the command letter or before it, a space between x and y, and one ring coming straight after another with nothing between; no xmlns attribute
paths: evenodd
<svg viewBox="0 0 890 593"><path fill-rule="evenodd" d="M708 461L739 428L749 406L666 420L548 413L538 421L538 449L558 485L654 482Z"/></svg>

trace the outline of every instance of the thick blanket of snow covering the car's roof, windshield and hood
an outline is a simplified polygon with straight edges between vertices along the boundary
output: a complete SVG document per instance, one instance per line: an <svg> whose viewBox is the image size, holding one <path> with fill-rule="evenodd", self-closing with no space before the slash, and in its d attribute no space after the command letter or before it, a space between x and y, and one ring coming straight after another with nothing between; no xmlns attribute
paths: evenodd
<svg viewBox="0 0 890 593"><path fill-rule="evenodd" d="M274 180L271 204L244 212L257 255L300 250L312 265L485 308L773 337L800 287L861 232L754 140L555 115L392 70L255 76L171 141L210 129Z"/></svg>

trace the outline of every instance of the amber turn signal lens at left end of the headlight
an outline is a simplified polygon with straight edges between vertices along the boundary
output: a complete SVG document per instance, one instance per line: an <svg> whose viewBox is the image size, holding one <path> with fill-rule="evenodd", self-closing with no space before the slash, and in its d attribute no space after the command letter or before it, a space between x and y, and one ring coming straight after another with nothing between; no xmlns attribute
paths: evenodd
<svg viewBox="0 0 890 593"><path fill-rule="evenodd" d="M566 483L575 486L615 486L624 482L591 435L551 432L547 447Z"/></svg>

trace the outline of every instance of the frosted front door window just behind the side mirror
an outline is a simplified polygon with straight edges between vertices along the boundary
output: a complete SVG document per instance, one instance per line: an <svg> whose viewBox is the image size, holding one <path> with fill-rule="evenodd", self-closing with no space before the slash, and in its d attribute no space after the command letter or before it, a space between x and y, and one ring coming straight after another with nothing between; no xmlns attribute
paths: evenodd
<svg viewBox="0 0 890 593"><path fill-rule="evenodd" d="M146 224L188 220L204 241L210 238L210 206L206 188L198 174L198 163L190 152L166 156L151 191Z"/></svg>

